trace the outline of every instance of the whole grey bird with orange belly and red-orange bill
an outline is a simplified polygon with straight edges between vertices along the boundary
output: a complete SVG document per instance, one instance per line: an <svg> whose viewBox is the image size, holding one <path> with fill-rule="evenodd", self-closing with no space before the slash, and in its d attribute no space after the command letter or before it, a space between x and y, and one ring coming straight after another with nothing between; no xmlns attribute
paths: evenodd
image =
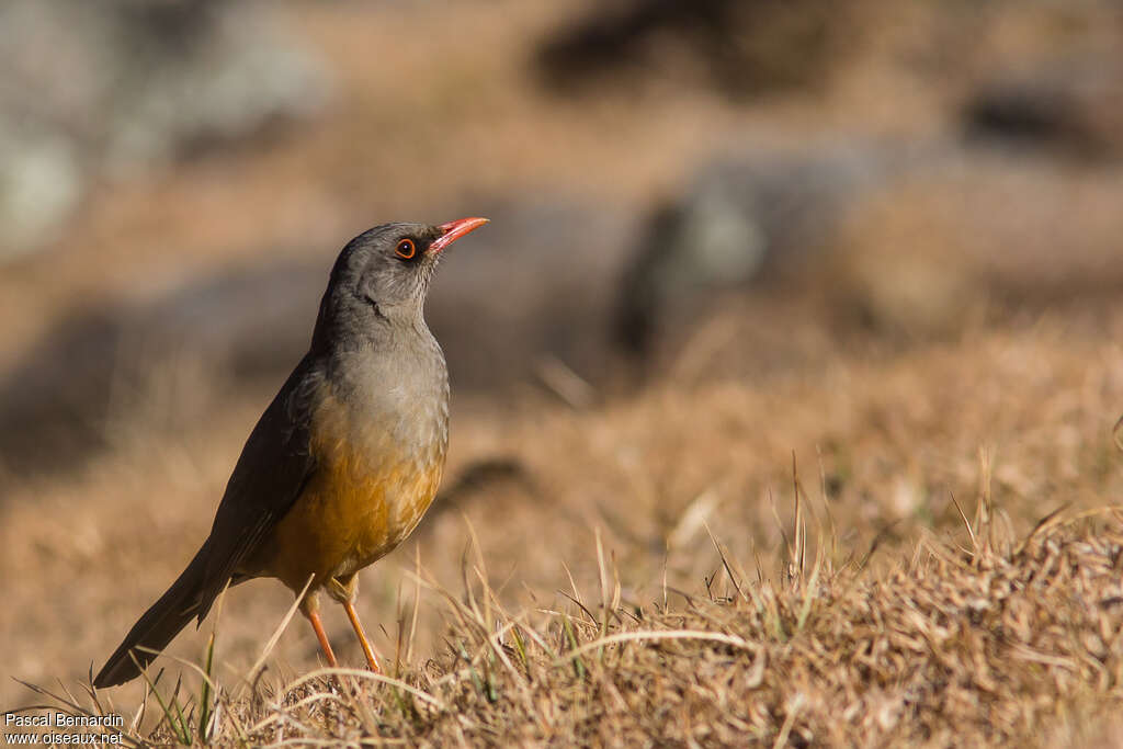
<svg viewBox="0 0 1123 749"><path fill-rule="evenodd" d="M385 223L351 239L331 268L308 353L250 431L207 540L93 679L140 675L228 586L273 577L300 599L329 666L320 593L343 604L367 664L378 659L355 601L357 573L420 522L448 448L445 356L424 321L437 264L487 223Z"/></svg>

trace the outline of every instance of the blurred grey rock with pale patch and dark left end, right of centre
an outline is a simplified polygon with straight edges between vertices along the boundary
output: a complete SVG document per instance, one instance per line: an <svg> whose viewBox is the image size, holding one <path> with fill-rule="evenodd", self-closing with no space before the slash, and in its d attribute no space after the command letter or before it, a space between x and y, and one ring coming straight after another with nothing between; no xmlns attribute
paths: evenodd
<svg viewBox="0 0 1123 749"><path fill-rule="evenodd" d="M716 293L806 264L847 209L905 161L874 143L715 159L648 220L623 275L618 340L642 355Z"/></svg>

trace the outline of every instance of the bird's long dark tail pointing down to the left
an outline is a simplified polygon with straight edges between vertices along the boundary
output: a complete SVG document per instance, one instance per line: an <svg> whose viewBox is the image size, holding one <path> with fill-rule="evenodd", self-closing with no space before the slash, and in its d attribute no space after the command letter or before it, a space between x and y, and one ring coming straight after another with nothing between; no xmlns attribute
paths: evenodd
<svg viewBox="0 0 1123 749"><path fill-rule="evenodd" d="M98 672L93 679L94 686L117 686L139 676L140 668L156 658L157 652L148 650L163 650L199 614L207 579L207 557L208 545L204 544L188 568L172 583L172 587L144 612L125 636L125 640ZM136 663L133 657L136 657Z"/></svg>

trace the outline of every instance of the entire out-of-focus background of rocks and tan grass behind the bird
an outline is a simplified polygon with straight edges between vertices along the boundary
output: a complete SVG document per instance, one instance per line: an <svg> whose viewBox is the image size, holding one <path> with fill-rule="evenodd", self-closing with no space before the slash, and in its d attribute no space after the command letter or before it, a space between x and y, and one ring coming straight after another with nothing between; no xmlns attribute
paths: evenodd
<svg viewBox="0 0 1123 749"><path fill-rule="evenodd" d="M20 678L99 666L182 568L337 252L385 221L492 219L428 304L454 437L418 548L448 584L465 519L547 596L594 526L634 579L699 544L699 517L774 548L758 500L793 449L861 532L939 527L996 413L1017 454L1050 373L1086 396L1057 404L1072 450L1117 415L1101 400L1123 407L1111 0L8 0L0 71L0 640ZM1079 460L1108 473L1106 448L1033 449L1077 463L1005 475L1019 497ZM390 650L416 550L364 576ZM229 657L286 604L239 591Z"/></svg>

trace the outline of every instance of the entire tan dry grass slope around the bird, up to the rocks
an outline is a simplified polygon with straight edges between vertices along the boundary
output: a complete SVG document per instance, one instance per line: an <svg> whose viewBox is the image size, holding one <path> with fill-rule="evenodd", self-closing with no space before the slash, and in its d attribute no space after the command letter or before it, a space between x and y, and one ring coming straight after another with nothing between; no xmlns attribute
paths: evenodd
<svg viewBox="0 0 1123 749"><path fill-rule="evenodd" d="M695 341L676 380L595 410L462 409L454 478L484 458L517 469L457 490L365 575L392 681L330 681L299 620L253 681L262 622L289 600L239 588L218 627L213 742L1106 746L1123 526L1101 508L1121 488L1123 350L1099 336L1121 323L1048 317L891 357L843 346L820 351L831 366L815 377L754 381L734 378L728 347ZM751 340L751 317L712 325ZM716 378L697 374L721 351ZM179 448L139 440L77 479L85 497L72 485L13 497L2 563L39 582L10 591L0 618L24 645L15 675L65 672L77 691L202 538L236 421ZM80 541L45 528L44 508ZM341 618L329 632L362 663ZM201 663L206 634L173 652ZM197 704L197 669L162 663L162 694L182 672L179 700ZM141 697L98 695L126 720ZM170 731L149 697L130 736Z"/></svg>

